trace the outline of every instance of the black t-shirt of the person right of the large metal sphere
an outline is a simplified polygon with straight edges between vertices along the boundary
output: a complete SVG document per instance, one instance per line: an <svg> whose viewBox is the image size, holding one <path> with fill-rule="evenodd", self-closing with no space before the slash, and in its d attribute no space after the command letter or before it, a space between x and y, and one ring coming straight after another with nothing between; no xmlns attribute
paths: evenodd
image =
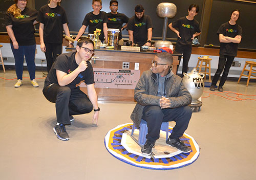
<svg viewBox="0 0 256 180"><path fill-rule="evenodd" d="M180 37L176 47L179 46L191 46L192 37L196 32L200 33L199 23L196 19L188 20L186 17L181 17L172 22L173 28L177 29L180 32ZM191 47L192 48L192 47Z"/></svg>

